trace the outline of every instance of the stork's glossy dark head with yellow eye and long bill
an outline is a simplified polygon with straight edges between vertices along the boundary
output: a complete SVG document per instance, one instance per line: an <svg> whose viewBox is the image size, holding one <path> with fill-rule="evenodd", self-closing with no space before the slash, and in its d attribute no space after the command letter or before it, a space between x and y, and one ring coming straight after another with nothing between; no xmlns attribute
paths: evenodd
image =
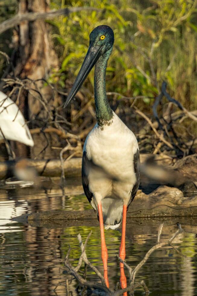
<svg viewBox="0 0 197 296"><path fill-rule="evenodd" d="M66 99L64 107L66 107L71 99L74 98L99 57L104 55L108 51L111 52L113 43L114 34L113 30L109 26L98 26L90 33L90 45L87 50L87 54L78 73L78 76L75 79L71 91Z"/></svg>

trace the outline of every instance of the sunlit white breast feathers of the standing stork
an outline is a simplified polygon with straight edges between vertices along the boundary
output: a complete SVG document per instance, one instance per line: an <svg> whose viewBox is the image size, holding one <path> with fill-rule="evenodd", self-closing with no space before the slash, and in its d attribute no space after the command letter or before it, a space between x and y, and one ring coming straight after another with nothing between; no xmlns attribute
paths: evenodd
<svg viewBox="0 0 197 296"><path fill-rule="evenodd" d="M136 182L133 157L137 149L135 135L115 113L112 124L105 125L103 130L96 124L84 144L87 158L118 180L110 189L126 199L130 198ZM104 176L98 180L90 174L89 189L97 199L102 199L109 194L109 182Z"/></svg>

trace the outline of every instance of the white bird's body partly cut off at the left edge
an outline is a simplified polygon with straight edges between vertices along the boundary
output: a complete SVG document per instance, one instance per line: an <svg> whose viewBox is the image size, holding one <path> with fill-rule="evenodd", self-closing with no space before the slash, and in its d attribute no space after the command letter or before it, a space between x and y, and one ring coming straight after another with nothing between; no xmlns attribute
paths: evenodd
<svg viewBox="0 0 197 296"><path fill-rule="evenodd" d="M33 146L30 130L18 106L0 92L0 140L14 140Z"/></svg>

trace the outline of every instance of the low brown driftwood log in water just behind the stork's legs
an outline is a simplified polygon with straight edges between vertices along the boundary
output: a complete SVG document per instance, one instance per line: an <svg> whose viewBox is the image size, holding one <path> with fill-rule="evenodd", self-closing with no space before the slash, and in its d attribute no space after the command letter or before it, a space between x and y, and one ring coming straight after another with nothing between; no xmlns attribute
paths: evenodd
<svg viewBox="0 0 197 296"><path fill-rule="evenodd" d="M81 190L83 189L81 188ZM173 217L173 219L169 217ZM150 220L150 218L152 220ZM171 225L177 222L175 220L180 219L182 224L188 224L188 219L192 220L192 224L195 225L195 229L197 230L197 196L184 197L183 192L178 188L171 188L164 185L158 187L148 195L139 190L129 207L127 219L127 221L130 221L127 227L128 233L133 232L133 223L137 225L138 223L145 221L146 225L150 224L150 226L158 226L158 221L162 220L168 221L168 223L171 221ZM24 214L13 218L13 220L19 222L28 221L32 226L45 227L55 227L59 225L67 227L98 225L97 214L93 209L85 211L49 210ZM142 228L144 231L144 225Z"/></svg>

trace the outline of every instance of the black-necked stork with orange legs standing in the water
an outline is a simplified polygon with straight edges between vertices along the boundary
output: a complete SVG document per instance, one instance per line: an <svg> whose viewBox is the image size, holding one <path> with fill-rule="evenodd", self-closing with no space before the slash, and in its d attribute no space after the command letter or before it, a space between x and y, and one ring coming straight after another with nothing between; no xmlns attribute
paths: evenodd
<svg viewBox="0 0 197 296"><path fill-rule="evenodd" d="M88 73L94 70L94 99L97 124L88 134L82 157L82 184L88 201L98 213L104 278L107 277L107 248L104 226L116 229L122 221L119 255L125 259L126 212L136 195L140 179L140 158L135 135L112 111L106 96L106 67L113 49L113 30L106 25L90 33L90 45L65 106L74 98ZM103 225L104 224L104 225ZM120 263L121 287L126 287Z"/></svg>

